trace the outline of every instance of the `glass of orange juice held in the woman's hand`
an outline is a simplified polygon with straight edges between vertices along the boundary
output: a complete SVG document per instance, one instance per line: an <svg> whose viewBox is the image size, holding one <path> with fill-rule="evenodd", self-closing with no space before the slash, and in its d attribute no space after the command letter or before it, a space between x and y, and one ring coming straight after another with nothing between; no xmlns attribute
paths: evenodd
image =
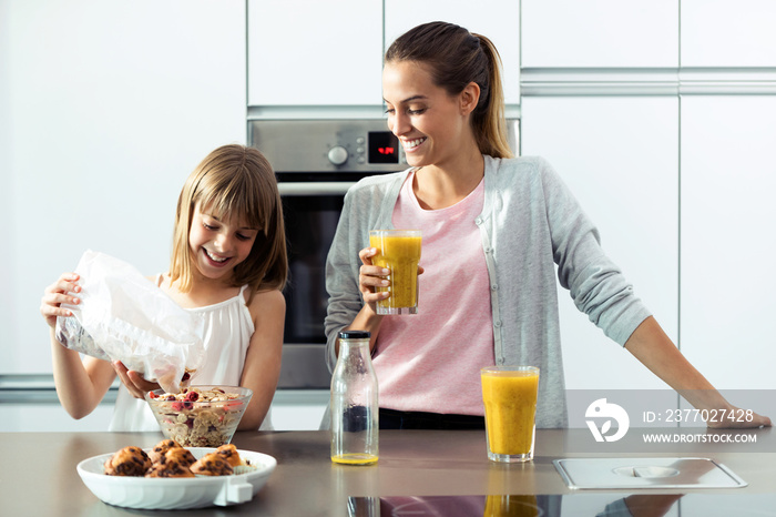
<svg viewBox="0 0 776 517"><path fill-rule="evenodd" d="M418 313L418 262L420 261L419 230L371 230L369 246L378 254L371 262L390 270L387 287L377 287L377 292L390 293L377 302L377 314L417 314Z"/></svg>

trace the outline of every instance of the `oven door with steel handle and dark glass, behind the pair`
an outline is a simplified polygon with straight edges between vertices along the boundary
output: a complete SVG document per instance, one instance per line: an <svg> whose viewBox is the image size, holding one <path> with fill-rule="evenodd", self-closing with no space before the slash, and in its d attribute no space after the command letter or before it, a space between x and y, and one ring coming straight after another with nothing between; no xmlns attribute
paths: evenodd
<svg viewBox="0 0 776 517"><path fill-rule="evenodd" d="M280 388L327 388L326 256L354 182L278 182L288 245Z"/></svg>

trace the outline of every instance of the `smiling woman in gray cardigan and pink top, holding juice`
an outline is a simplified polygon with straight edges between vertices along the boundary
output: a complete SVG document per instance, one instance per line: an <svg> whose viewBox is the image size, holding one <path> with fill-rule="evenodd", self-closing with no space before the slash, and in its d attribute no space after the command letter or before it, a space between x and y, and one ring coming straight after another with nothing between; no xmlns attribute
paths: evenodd
<svg viewBox="0 0 776 517"><path fill-rule="evenodd" d="M561 285L607 336L695 407L729 409L633 295L552 168L512 158L499 67L487 38L443 22L388 49L388 128L411 166L346 195L327 265L329 367L339 331L369 331L380 427L481 428L480 368L539 366L537 426L565 426L557 265ZM422 231L417 315L375 310L389 296L375 292L389 285L389 271L364 246L369 230L391 227ZM739 423L769 424L756 414Z"/></svg>

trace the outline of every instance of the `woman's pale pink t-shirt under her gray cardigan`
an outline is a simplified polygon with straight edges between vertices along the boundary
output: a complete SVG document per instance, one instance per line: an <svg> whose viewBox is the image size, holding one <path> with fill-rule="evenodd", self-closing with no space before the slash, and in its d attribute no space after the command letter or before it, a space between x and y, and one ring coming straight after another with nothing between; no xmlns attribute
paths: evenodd
<svg viewBox="0 0 776 517"><path fill-rule="evenodd" d="M374 358L380 407L482 415L480 368L494 364L490 282L474 219L484 181L462 201L423 210L407 176L398 230L422 232L418 314L386 316Z"/></svg>

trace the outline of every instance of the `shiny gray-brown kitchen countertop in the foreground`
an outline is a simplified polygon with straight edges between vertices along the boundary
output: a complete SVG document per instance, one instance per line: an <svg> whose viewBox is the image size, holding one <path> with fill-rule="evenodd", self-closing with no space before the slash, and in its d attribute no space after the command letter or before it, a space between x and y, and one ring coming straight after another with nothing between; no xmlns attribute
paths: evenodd
<svg viewBox="0 0 776 517"><path fill-rule="evenodd" d="M237 448L265 453L278 462L267 484L253 500L243 505L186 510L185 515L385 516L391 515L388 510L391 505L408 501L412 501L413 511L420 507L448 505L447 508L458 509L455 515L482 515L486 495L510 494L539 495L535 500L544 510L541 515L604 515L601 513L606 505L631 494L651 495L647 497L651 507L667 501L672 511L684 504L683 516L734 515L695 514L692 508L721 509L728 505L739 509L744 504L757 509L751 515L775 515L765 511L776 511L776 484L773 481L776 435L770 428L746 433L757 436L756 452L754 448L746 452L745 445L683 444L656 453L623 454L580 452L574 439L589 435L586 429L545 429L537 432L533 462L506 465L487 459L483 432L384 430L378 464L354 467L331 464L327 432L242 432L233 439ZM75 470L79 462L91 456L127 445L151 447L162 439L161 433L1 433L0 439L3 444L0 515L167 514L105 505L89 491ZM602 444L606 445L610 444ZM553 459L566 457L617 456L709 457L726 465L748 486L718 490L661 489L661 496L655 495L656 489L572 490L552 464ZM675 504L677 499L680 503ZM369 505L371 510L367 509ZM735 515L748 514L735 511Z"/></svg>

